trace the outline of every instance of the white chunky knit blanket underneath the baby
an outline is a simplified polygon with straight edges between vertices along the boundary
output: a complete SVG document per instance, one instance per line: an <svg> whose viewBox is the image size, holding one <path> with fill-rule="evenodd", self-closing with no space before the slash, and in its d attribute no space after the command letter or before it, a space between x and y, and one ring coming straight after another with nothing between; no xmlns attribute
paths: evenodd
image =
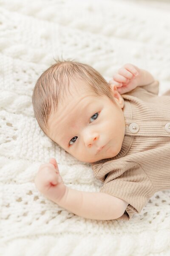
<svg viewBox="0 0 170 256"><path fill-rule="evenodd" d="M0 256L170 255L170 191L130 221L96 221L34 184L40 164L55 157L67 186L102 186L91 164L55 145L34 117L35 82L54 58L90 64L106 79L129 62L160 81L160 94L170 88L170 3L152 2L0 1Z"/></svg>

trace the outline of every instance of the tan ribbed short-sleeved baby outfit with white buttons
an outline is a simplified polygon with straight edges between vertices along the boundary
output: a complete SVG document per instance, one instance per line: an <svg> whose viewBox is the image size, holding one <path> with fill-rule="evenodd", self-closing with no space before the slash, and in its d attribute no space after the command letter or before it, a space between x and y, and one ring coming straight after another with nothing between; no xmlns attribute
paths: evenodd
<svg viewBox="0 0 170 256"><path fill-rule="evenodd" d="M125 200L129 220L141 212L157 191L170 189L170 91L158 96L159 82L137 87L123 94L125 137L121 151L113 158L92 163L94 175L102 180L100 192ZM132 133L129 125L139 131Z"/></svg>

